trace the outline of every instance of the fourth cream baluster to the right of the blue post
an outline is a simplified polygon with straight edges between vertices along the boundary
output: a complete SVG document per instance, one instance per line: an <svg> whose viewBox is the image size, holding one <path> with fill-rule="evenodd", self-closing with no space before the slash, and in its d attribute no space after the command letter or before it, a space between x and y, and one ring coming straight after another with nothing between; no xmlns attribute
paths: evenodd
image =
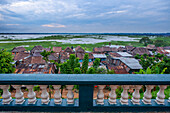
<svg viewBox="0 0 170 113"><path fill-rule="evenodd" d="M142 88L142 85L135 85L134 89L135 91L132 94L132 103L133 104L140 104L140 93L139 90Z"/></svg>

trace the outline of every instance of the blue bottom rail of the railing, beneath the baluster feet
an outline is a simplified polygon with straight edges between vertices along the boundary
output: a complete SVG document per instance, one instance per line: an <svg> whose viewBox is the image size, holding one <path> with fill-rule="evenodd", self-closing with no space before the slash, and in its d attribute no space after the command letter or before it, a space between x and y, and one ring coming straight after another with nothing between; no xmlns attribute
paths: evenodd
<svg viewBox="0 0 170 113"><path fill-rule="evenodd" d="M140 100L140 105L134 105L131 99L128 100L128 105L122 105L120 100L117 99L117 104L109 104L108 100L104 100L104 105L97 105L96 100L93 100L93 106L88 106L87 109L81 109L79 106L79 99L75 99L74 104L67 104L66 99L62 99L62 104L54 103L51 99L49 104L41 104L41 99L37 99L36 104L28 104L28 100L22 105L15 104L15 99L9 105L3 105L2 99L0 100L0 111L32 111L32 112L149 112L149 111L170 111L170 102L165 100L164 105L159 105L152 99L151 105L146 105Z"/></svg>

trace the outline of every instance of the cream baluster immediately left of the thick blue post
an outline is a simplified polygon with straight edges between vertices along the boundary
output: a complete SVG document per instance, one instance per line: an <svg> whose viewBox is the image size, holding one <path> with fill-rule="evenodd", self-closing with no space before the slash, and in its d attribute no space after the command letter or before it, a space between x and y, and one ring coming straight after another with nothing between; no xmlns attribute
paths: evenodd
<svg viewBox="0 0 170 113"><path fill-rule="evenodd" d="M73 94L73 87L74 85L66 85L67 89L68 89L68 93L67 93L67 104L74 104L74 94Z"/></svg>

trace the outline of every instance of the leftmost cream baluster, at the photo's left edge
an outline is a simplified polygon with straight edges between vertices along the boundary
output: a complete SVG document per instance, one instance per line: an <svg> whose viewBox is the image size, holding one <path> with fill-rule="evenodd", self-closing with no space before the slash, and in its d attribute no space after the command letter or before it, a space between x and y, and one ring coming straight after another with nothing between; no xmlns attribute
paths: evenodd
<svg viewBox="0 0 170 113"><path fill-rule="evenodd" d="M8 91L9 85L1 85L1 89L3 90L2 98L3 98L3 103L2 104L10 104L12 101L11 98L11 93Z"/></svg>

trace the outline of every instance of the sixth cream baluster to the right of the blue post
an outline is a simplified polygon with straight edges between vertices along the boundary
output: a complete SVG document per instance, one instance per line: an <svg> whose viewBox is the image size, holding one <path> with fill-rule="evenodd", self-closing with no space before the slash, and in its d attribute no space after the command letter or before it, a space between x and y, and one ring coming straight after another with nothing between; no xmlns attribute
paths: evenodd
<svg viewBox="0 0 170 113"><path fill-rule="evenodd" d="M157 97L156 97L156 103L157 104L164 104L164 98L165 98L165 94L164 94L164 90L167 88L167 85L159 85L159 92L157 93Z"/></svg>

